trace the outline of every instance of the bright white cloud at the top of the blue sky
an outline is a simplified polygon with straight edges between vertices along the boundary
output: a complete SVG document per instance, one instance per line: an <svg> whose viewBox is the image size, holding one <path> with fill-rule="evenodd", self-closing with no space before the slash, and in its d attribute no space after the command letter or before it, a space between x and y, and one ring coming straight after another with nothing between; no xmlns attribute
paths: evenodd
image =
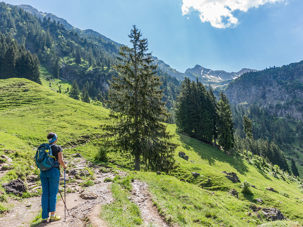
<svg viewBox="0 0 303 227"><path fill-rule="evenodd" d="M229 28L239 24L233 12L247 12L249 8L258 8L265 3L284 2L285 0L183 0L182 15L192 10L200 13L200 19L210 22L215 28Z"/></svg>

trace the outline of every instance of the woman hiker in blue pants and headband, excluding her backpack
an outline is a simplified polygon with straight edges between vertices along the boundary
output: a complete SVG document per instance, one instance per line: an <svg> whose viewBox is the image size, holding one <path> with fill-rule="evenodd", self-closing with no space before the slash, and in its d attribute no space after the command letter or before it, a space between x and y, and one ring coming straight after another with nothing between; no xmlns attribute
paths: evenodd
<svg viewBox="0 0 303 227"><path fill-rule="evenodd" d="M56 133L50 132L47 135L48 144L52 148L52 154L56 158L56 162L64 169L67 168L63 161L62 147L57 145L58 137ZM40 179L42 185L42 222L47 222L48 213L51 212L50 222L59 221L61 219L56 211L57 193L59 189L60 166L56 165L47 171L40 171Z"/></svg>

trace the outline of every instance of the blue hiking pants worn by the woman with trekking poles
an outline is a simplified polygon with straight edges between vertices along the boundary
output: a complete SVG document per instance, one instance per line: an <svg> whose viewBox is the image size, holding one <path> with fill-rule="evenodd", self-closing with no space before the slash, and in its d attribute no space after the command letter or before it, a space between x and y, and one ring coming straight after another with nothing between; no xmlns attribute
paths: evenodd
<svg viewBox="0 0 303 227"><path fill-rule="evenodd" d="M48 218L49 212L56 211L57 193L59 188L60 171L53 167L48 171L40 171L42 186L42 219Z"/></svg>

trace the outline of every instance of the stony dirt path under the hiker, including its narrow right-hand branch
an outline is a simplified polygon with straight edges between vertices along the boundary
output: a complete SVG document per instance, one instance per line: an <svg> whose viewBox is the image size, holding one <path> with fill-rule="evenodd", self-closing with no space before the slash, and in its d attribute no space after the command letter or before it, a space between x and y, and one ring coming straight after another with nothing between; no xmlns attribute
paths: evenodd
<svg viewBox="0 0 303 227"><path fill-rule="evenodd" d="M104 173L100 171L100 166L94 166L87 164L85 159L74 158L69 163L69 169L75 169L78 173L81 171L85 173L85 167L90 166L94 171L94 185L83 189L79 186L82 183L82 179L76 179L74 183L66 182L66 190L71 189L73 193L66 193L66 207L68 212L65 213L65 207L63 200L58 194L58 202L56 205L56 213L62 218L56 222L45 222L40 223L37 226L58 226L58 227L85 227L88 224L90 226L102 226L107 227L107 224L99 218L100 209L103 204L111 203L112 192L109 189L111 182L105 183L104 179L114 178L115 174L112 172ZM74 165L74 166L73 166ZM103 168L104 170L104 168ZM125 176L126 173L118 171L120 176ZM71 178L66 174L66 178ZM60 181L64 181L61 177ZM31 191L39 188L35 183L28 183L28 188ZM148 192L148 186L146 183L135 180L132 184L132 192L129 199L136 203L142 213L145 225L153 224L153 226L166 227L164 219L159 215L158 210L151 201L150 194ZM64 187L59 186L59 189L64 198ZM28 227L30 221L39 213L41 210L41 197L31 197L29 199L13 200L10 199L8 204L11 206L11 211L0 218L0 227ZM66 216L65 216L66 214Z"/></svg>

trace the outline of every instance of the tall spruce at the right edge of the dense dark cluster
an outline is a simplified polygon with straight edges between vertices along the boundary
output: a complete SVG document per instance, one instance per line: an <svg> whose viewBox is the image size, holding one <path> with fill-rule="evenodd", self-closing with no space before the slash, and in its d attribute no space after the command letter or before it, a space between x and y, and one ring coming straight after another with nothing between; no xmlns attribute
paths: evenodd
<svg viewBox="0 0 303 227"><path fill-rule="evenodd" d="M229 151L235 146L234 122L231 115L229 100L223 92L220 92L220 100L217 104L218 113L218 144L223 150ZM229 153L229 152L228 152Z"/></svg>

